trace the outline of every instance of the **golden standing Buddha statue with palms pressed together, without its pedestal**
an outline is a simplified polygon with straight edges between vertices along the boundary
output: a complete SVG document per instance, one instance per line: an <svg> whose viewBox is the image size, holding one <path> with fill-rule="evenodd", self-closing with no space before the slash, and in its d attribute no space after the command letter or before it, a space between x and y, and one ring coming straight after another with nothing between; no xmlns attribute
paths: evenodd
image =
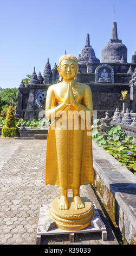
<svg viewBox="0 0 136 256"><path fill-rule="evenodd" d="M57 68L60 82L49 86L46 97L46 117L55 119L48 131L46 185L61 188L59 209L64 211L68 210L68 189L73 190L75 210L80 210L85 208L80 186L94 183L92 136L87 135L91 131L92 93L88 85L76 82L78 69L76 57L62 56ZM60 125L62 119L65 127ZM83 120L85 129L82 129Z"/></svg>

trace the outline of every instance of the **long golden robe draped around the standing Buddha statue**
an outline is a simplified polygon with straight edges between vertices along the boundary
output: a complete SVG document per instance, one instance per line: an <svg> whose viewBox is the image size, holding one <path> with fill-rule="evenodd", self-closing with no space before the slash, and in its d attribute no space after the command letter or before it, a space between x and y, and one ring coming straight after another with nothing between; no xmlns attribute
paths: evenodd
<svg viewBox="0 0 136 256"><path fill-rule="evenodd" d="M69 110L75 111L76 109L72 105L64 109L67 113L66 130L55 127L61 117L57 117L50 125L46 153L46 185L65 189L79 188L80 185L94 183L92 136L87 135L87 132L91 130L87 129L86 121L85 129L81 129L82 120L78 114L73 115L73 127L69 130ZM79 121L78 130L74 129L74 121L75 123Z"/></svg>

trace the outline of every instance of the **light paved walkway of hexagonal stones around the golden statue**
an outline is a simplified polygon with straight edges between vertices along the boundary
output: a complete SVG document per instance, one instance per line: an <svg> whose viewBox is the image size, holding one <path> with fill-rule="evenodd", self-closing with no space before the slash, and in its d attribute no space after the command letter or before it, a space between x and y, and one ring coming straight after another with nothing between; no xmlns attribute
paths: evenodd
<svg viewBox="0 0 136 256"><path fill-rule="evenodd" d="M45 163L46 141L0 137L0 244L36 244L40 204L60 195L60 188L44 184ZM81 192L87 196L86 186L81 186ZM90 193L102 213L93 191ZM75 244L118 244L104 215L103 219L107 241L102 241L98 233L78 234ZM68 235L42 239L42 244L68 243Z"/></svg>

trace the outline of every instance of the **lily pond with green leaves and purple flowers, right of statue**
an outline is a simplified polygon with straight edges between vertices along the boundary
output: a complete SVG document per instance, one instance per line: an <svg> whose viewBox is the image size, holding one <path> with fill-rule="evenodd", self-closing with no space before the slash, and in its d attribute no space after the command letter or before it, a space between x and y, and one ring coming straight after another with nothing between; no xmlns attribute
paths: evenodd
<svg viewBox="0 0 136 256"><path fill-rule="evenodd" d="M136 143L134 138L126 136L125 131L119 125L103 133L98 123L99 119L95 119L92 125L92 138L98 147L104 148L136 175Z"/></svg>

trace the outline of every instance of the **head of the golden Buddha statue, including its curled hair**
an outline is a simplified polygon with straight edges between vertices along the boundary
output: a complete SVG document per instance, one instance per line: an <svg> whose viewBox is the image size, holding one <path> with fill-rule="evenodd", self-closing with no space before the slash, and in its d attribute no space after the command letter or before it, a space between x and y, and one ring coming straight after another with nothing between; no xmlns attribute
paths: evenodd
<svg viewBox="0 0 136 256"><path fill-rule="evenodd" d="M60 81L62 81L62 78L66 82L72 82L73 80L76 80L78 70L78 62L75 56L71 54L65 54L60 57L59 67L57 68L57 71L60 75Z"/></svg>

